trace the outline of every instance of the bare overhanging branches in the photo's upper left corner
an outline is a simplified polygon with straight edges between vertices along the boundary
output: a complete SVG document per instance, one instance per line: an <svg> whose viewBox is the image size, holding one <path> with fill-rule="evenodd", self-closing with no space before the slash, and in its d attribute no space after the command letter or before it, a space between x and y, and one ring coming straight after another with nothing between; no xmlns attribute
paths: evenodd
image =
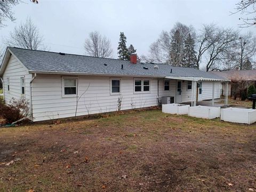
<svg viewBox="0 0 256 192"><path fill-rule="evenodd" d="M33 3L38 3L37 0L30 0ZM6 19L10 19L11 21L15 21L15 17L13 16L13 12L11 11L12 7L18 5L20 0L1 0L0 1L0 28L4 27L3 21Z"/></svg>

